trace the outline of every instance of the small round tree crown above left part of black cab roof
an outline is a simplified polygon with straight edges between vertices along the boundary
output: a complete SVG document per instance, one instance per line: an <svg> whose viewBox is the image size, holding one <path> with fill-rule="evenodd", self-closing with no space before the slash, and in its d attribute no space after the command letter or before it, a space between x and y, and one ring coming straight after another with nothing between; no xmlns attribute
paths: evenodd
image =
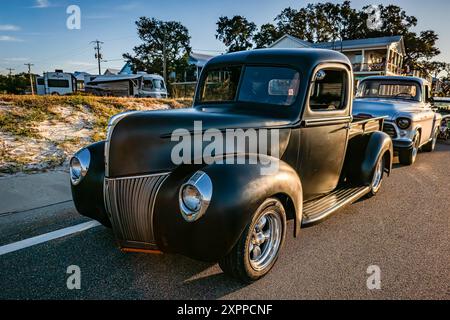
<svg viewBox="0 0 450 320"><path fill-rule="evenodd" d="M252 39L256 24L243 16L220 17L216 23L216 39L222 41L228 52L248 50L253 47Z"/></svg>

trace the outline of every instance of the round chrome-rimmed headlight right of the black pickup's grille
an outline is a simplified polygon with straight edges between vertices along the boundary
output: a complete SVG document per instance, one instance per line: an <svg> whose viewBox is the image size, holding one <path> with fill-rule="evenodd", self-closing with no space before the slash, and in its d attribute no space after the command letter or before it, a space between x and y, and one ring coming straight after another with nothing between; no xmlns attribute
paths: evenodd
<svg viewBox="0 0 450 320"><path fill-rule="evenodd" d="M212 198L211 178L203 171L198 171L180 188L179 202L183 218L194 222L203 217Z"/></svg>

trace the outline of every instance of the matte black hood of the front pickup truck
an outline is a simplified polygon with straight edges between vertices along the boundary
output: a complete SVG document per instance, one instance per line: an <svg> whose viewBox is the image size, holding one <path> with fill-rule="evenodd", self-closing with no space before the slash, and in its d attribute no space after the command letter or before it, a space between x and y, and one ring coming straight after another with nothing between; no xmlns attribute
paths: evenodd
<svg viewBox="0 0 450 320"><path fill-rule="evenodd" d="M278 128L280 157L286 150L290 137L290 129L283 129L289 124L288 120L276 119L270 115L242 113L227 108L132 113L118 122L107 142L109 148L107 176L114 178L172 171L178 166L172 160L172 151L185 136L192 141L195 122L201 124L203 132L208 129ZM174 141L172 141L173 133L178 137ZM204 142L203 148L210 143ZM193 148L194 143L191 145ZM191 156L193 162L193 150Z"/></svg>

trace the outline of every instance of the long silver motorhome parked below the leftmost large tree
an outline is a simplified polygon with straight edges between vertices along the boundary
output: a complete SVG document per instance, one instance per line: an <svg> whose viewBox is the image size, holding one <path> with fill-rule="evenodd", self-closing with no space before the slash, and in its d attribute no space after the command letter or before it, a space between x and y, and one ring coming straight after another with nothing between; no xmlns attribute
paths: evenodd
<svg viewBox="0 0 450 320"><path fill-rule="evenodd" d="M85 91L101 96L167 98L164 78L143 72L91 77Z"/></svg>

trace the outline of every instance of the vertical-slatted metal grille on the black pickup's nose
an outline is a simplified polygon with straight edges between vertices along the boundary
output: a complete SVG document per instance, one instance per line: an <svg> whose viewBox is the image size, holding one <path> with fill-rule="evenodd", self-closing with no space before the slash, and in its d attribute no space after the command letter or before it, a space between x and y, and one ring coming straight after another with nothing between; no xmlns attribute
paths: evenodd
<svg viewBox="0 0 450 320"><path fill-rule="evenodd" d="M105 205L121 248L156 250L153 211L168 173L105 179Z"/></svg>

